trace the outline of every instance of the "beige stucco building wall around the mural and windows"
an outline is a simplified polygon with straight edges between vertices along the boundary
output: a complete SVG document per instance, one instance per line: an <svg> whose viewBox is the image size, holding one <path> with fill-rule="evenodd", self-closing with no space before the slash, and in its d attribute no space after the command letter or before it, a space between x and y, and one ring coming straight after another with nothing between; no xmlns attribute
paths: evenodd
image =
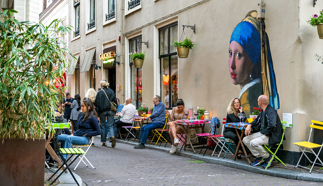
<svg viewBox="0 0 323 186"><path fill-rule="evenodd" d="M197 2L199 4L193 5ZM186 107L204 107L212 116L222 120L226 117L228 103L234 97L238 97L240 86L231 82L228 66L228 48L230 37L234 27L241 22L250 10L257 10L257 0L243 1L213 1L213 0L191 0L191 1L141 1L141 8L124 16L123 36L127 39L130 34L141 31L142 41L147 41L149 47L142 45L142 51L146 58L142 67L142 90L143 103L152 107L152 97L156 93L154 84L160 82L158 54L155 47L158 43L158 34L154 34L158 24L167 21L171 17L178 16L178 35L182 34L182 24L196 26L196 33L185 28L185 34L194 40L195 46L190 51L188 58L178 59L179 73L179 97L183 98ZM311 119L322 120L319 105L322 104L322 68L315 60L314 54L322 51L322 40L318 39L316 27L306 23L309 16L318 14L322 2L317 2L316 7L308 1L296 2L271 0L266 3L266 33L269 37L271 55L276 74L277 90L280 100L280 109L277 111L281 120L282 113L301 113L295 115L295 125L286 129L287 140L284 141L284 149L297 151L292 142L306 140L309 134ZM99 51L102 51L102 43L116 39L120 34L120 3L116 4L116 21L102 26L102 7L98 6L97 16L99 20L96 31L85 35L85 15L81 14L81 37L70 42L72 53L81 52L81 64L84 59L85 49L92 46L97 47L97 59ZM169 6L171 5L171 6ZM193 6L190 6L193 5ZM72 2L69 2L72 7ZM127 4L125 4L125 8ZM188 7L190 6L190 7ZM185 8L188 7L188 8ZM81 2L81 11L84 1ZM183 9L183 10L182 10ZM181 10L181 11L179 11ZM179 12L178 12L179 11ZM73 17L73 16L70 16ZM72 21L70 19L70 21ZM144 25L144 26L142 26ZM157 38L157 39L156 39ZM155 46L155 47L154 47ZM120 44L117 42L117 53L120 52ZM125 48L125 54L128 49ZM125 55L126 56L126 55ZM97 60L98 63L99 60ZM118 58L117 58L118 61ZM126 68L128 62L125 62ZM155 69L155 70L154 70ZM157 69L157 70L156 70ZM99 75L97 70L97 87ZM117 65L117 84L121 84L120 65ZM81 73L80 82L86 84L86 73ZM157 74L157 76L156 76ZM156 78L157 77L157 78ZM158 85L159 86L159 85ZM82 85L80 85L82 87ZM126 85L125 92L130 88ZM83 91L86 91L84 88ZM80 88L80 95L83 97ZM157 94L160 92L157 91ZM117 97L121 97L117 91ZM317 111L318 110L318 111ZM305 114L305 115L304 115ZM299 127L297 127L299 126ZM299 129L302 130L299 130ZM209 127L206 127L208 131ZM306 131L304 131L304 130ZM306 132L306 136L300 135Z"/></svg>

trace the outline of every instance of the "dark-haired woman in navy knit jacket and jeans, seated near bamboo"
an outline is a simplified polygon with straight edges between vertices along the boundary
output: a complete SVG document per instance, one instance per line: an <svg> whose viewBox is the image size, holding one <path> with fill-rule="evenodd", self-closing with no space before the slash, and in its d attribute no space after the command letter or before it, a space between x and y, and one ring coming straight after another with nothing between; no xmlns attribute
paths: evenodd
<svg viewBox="0 0 323 186"><path fill-rule="evenodd" d="M58 135L58 141L64 142L63 148L71 148L73 145L86 145L92 136L101 134L99 120L94 109L93 103L90 100L83 100L81 110L84 113L78 119L78 130L71 135ZM63 154L63 158L67 159L67 154Z"/></svg>

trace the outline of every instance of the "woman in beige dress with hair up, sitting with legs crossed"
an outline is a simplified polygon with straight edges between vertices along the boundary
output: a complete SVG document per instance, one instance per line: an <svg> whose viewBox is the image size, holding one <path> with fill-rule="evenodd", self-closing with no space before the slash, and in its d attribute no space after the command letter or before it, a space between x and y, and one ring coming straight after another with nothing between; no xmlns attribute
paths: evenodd
<svg viewBox="0 0 323 186"><path fill-rule="evenodd" d="M184 107L184 101L182 99L177 100L176 107L173 107L172 113L170 114L168 110L166 110L166 114L168 115L168 123L167 125L170 126L169 135L172 139L172 148L169 153L174 153L178 150L177 145L180 143L180 141L177 138L178 132L184 132L184 130L187 129L187 125L179 125L176 124L175 121L181 120L182 118L187 119L187 115L189 113L189 110ZM186 114L186 115L185 115Z"/></svg>

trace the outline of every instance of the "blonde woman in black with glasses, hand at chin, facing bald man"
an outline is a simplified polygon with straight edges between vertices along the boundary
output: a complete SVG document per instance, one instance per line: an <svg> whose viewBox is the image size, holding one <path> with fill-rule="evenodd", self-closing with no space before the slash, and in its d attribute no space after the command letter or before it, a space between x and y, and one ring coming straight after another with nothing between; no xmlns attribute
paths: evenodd
<svg viewBox="0 0 323 186"><path fill-rule="evenodd" d="M228 111L228 113L226 115L226 122L227 123L241 122L240 118L238 118L238 113L244 113L244 112L242 111L242 106L240 106L240 105L241 105L241 103L240 103L239 98L234 98L233 100L231 100L231 102L227 108L227 111ZM243 119L243 122L245 122L246 120L247 120L247 118L245 117ZM239 135L241 135L241 130L240 129L237 129L237 130L239 132ZM224 127L223 136L224 136L224 138L230 138L234 142L234 144L238 145L239 138L238 138L238 135L235 132L234 128ZM242 150L243 150L242 146L240 145L239 152L243 152ZM237 156L237 158L240 160L241 154L239 154Z"/></svg>

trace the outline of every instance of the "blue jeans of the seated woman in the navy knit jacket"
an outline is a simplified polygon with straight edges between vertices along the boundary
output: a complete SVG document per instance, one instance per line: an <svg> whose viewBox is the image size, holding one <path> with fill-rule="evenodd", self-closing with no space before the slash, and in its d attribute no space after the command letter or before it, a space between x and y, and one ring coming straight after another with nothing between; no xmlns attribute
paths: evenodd
<svg viewBox="0 0 323 186"><path fill-rule="evenodd" d="M86 136L70 136L67 134L60 134L57 136L59 142L64 142L63 148L71 148L73 145L86 145L90 142L90 137ZM67 154L63 154L63 158L67 159Z"/></svg>

